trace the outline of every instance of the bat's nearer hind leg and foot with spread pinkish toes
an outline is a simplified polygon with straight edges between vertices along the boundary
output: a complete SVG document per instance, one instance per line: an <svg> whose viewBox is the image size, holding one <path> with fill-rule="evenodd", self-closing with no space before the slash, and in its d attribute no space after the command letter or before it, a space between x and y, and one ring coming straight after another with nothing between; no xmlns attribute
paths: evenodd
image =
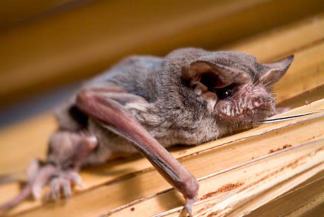
<svg viewBox="0 0 324 217"><path fill-rule="evenodd" d="M77 172L97 145L97 138L85 132L58 131L52 135L47 164L55 167L50 177L50 194L54 200L60 198L61 190L68 198L71 195L71 185L81 185L81 178ZM44 181L35 180L33 194L37 194Z"/></svg>

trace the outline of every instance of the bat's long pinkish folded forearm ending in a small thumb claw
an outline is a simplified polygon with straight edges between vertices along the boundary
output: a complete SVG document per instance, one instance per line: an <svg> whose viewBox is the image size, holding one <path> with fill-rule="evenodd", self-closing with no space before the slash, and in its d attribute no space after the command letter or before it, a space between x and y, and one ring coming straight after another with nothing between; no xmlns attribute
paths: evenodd
<svg viewBox="0 0 324 217"><path fill-rule="evenodd" d="M124 93L120 94L120 97L116 93L111 97L103 90L84 89L78 93L76 105L113 132L132 141L134 147L157 171L183 194L186 208L191 215L191 206L197 198L199 188L197 180L118 102L124 98ZM131 100L132 94L127 95L128 100Z"/></svg>

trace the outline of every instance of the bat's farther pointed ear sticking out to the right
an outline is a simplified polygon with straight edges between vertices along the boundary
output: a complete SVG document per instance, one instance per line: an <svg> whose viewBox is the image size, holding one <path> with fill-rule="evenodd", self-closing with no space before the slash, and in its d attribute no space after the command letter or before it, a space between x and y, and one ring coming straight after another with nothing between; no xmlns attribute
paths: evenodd
<svg viewBox="0 0 324 217"><path fill-rule="evenodd" d="M262 64L266 70L260 78L261 83L271 85L279 81L285 75L293 59L294 55L291 55L275 62Z"/></svg>

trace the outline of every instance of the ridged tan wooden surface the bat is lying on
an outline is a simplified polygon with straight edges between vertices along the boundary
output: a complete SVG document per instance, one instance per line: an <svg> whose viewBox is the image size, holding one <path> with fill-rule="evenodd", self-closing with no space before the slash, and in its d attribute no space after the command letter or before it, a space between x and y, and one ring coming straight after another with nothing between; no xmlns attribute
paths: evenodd
<svg viewBox="0 0 324 217"><path fill-rule="evenodd" d="M297 114L324 110L323 43L324 16L319 14L224 48L252 53L261 61L294 53L291 68L274 89L279 104L291 103L294 108L286 114ZM197 147L171 149L171 153L199 178L199 201L194 205L194 213L259 216L258 213L275 206L275 213L302 216L310 210L305 207L320 210L324 156L323 141L318 139L324 136L323 118L324 112L319 112L285 122L262 124ZM55 127L53 117L43 114L2 129L0 173L4 177L11 174L13 178L22 178L30 159L45 157L46 142ZM270 153L286 144L291 147ZM84 188L75 188L70 200L43 203L30 199L2 215L105 216L119 207L110 214L149 216L167 211L166 215L179 216L184 202L140 156L86 168L81 175ZM252 185L258 180L263 185ZM319 186L318 192L310 188L311 184ZM1 185L0 203L15 196L19 187L18 182ZM43 193L47 190L45 188ZM305 195L305 199L300 197L296 205L287 209L282 208L287 206L276 205L296 194ZM222 199L224 195L235 197Z"/></svg>

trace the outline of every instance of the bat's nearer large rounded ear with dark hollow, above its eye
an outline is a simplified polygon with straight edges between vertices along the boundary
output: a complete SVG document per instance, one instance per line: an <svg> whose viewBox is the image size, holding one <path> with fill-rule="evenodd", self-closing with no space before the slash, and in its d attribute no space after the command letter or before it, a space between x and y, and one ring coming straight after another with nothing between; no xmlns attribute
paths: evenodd
<svg viewBox="0 0 324 217"><path fill-rule="evenodd" d="M195 61L181 69L182 78L206 83L208 88L222 88L251 80L244 71L208 61Z"/></svg>

